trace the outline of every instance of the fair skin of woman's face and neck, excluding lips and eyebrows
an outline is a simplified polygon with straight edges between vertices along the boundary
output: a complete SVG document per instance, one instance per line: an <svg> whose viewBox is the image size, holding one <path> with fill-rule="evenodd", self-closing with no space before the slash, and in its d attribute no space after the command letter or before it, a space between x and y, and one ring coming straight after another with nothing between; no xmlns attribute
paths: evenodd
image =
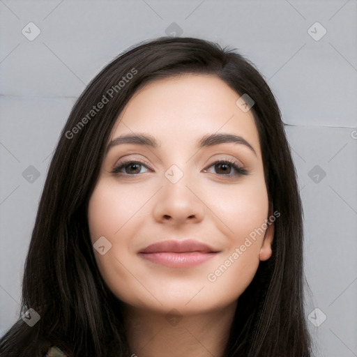
<svg viewBox="0 0 357 357"><path fill-rule="evenodd" d="M155 149L109 149L88 209L92 243L105 236L112 244L105 255L94 250L96 261L125 307L128 342L139 357L222 356L237 299L259 261L271 257L273 224L214 282L207 278L272 214L254 117L236 105L239 97L213 75L158 79L135 93L110 135L109 142L142 132L160 143ZM243 137L256 154L234 143L195 147L204 135L222 132ZM248 175L229 177L233 167L213 165L227 159ZM111 173L126 160L149 165ZM172 165L183 173L176 183L165 176ZM191 268L162 266L137 254L151 243L185 238L220 252Z"/></svg>

